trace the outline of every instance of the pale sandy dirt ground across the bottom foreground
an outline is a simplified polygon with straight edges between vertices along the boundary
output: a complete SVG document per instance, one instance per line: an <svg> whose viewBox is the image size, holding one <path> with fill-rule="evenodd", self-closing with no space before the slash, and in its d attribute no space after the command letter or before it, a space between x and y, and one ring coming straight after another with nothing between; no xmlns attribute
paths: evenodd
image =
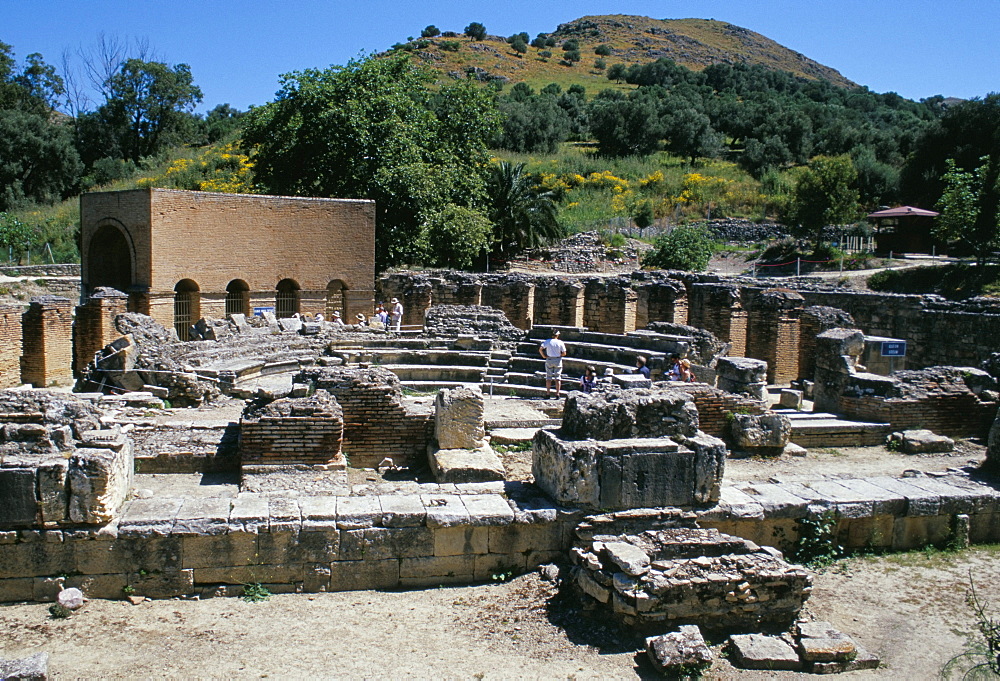
<svg viewBox="0 0 1000 681"><path fill-rule="evenodd" d="M885 667L850 678L934 678L975 620L969 571L1000 602L1000 547L841 561L816 576L809 617L852 634ZM0 607L0 655L51 655L54 678L419 676L635 678L641 638L591 619L537 574L506 584L153 601L94 601L65 620L45 604ZM716 652L720 648L716 645ZM775 674L734 669L715 679ZM786 673L783 678L802 678Z"/></svg>

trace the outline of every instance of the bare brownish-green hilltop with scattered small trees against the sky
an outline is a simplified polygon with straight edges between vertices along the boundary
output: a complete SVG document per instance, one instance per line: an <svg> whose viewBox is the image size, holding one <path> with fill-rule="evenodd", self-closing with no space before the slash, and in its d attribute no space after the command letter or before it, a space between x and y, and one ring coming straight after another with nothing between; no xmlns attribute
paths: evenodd
<svg viewBox="0 0 1000 681"><path fill-rule="evenodd" d="M835 85L856 87L835 69L815 62L753 31L709 19L651 19L612 14L586 16L561 24L549 34L556 45L529 47L518 55L501 36L470 41L465 36L413 41L397 48L412 51L417 61L452 77L477 70L483 79L526 82L533 87L548 83L580 83L593 89L609 87L607 68L614 64L642 64L661 57L692 70L714 63L760 64L809 79L825 79ZM581 60L568 65L562 46L579 43ZM594 50L607 45L605 68L597 68ZM457 49L456 49L457 47ZM542 53L548 51L550 57ZM588 88L588 90L591 88Z"/></svg>

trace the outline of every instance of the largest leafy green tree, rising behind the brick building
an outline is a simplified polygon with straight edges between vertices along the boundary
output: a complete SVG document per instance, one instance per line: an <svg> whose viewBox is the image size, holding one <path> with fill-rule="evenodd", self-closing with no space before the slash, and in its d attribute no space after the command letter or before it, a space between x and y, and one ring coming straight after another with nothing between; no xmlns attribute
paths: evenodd
<svg viewBox="0 0 1000 681"><path fill-rule="evenodd" d="M429 216L483 204L499 128L492 93L465 81L432 93L429 79L405 54L282 76L246 115L259 189L373 199L379 270L424 261Z"/></svg>

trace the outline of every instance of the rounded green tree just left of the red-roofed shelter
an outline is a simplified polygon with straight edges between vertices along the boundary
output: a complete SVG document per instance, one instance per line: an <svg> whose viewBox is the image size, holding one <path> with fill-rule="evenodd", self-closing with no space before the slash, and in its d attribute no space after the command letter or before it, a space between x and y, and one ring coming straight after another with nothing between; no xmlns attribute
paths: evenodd
<svg viewBox="0 0 1000 681"><path fill-rule="evenodd" d="M858 214L857 171L850 156L816 156L799 176L792 214L803 235L823 242L823 228L852 222Z"/></svg>

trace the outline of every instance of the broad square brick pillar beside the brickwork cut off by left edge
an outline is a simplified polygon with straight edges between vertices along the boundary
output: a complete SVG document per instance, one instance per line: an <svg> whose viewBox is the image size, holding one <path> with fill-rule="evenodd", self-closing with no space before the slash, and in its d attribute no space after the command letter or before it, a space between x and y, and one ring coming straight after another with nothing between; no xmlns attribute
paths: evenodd
<svg viewBox="0 0 1000 681"><path fill-rule="evenodd" d="M22 324L21 380L36 388L72 384L73 305L69 298L33 298Z"/></svg>

